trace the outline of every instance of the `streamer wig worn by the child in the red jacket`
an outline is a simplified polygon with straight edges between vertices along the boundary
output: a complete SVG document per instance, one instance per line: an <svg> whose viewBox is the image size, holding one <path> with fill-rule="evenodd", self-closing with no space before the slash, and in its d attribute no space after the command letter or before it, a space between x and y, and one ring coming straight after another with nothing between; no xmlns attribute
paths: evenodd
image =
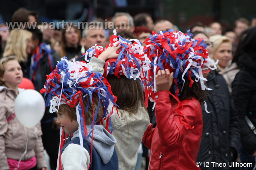
<svg viewBox="0 0 256 170"><path fill-rule="evenodd" d="M204 85L203 73L209 72L208 68L216 69L216 63L208 57L207 45L202 38L192 39L193 34L182 33L170 29L169 31L153 32L144 41L146 46L144 52L151 60L151 70L148 71L145 94L152 99L152 94L156 91L155 76L158 70L168 69L173 72L175 95L172 95L179 103L179 88L184 86L184 76L188 77L192 87L194 81L191 77L196 76L195 81L200 81L202 90L208 89ZM211 65L214 68L211 68ZM208 71L204 71L204 70ZM182 89L182 88L181 88ZM208 89L210 90L210 89Z"/></svg>

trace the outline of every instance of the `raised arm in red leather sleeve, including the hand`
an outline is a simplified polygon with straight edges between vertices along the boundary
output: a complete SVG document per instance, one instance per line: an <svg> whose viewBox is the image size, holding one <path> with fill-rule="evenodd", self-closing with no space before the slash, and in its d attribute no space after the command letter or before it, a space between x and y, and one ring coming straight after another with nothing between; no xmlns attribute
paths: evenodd
<svg viewBox="0 0 256 170"><path fill-rule="evenodd" d="M156 102L155 116L158 135L161 143L165 146L178 142L188 132L189 128L186 123L193 126L197 119L202 118L202 114L199 115L200 112L202 113L200 103L195 99L182 102L182 107L178 109L183 116L178 113L176 108L172 108L169 97L172 82L173 73L170 74L169 70L158 71L156 76L157 92L153 97ZM183 122L181 122L182 118ZM200 138L200 136L195 138Z"/></svg>

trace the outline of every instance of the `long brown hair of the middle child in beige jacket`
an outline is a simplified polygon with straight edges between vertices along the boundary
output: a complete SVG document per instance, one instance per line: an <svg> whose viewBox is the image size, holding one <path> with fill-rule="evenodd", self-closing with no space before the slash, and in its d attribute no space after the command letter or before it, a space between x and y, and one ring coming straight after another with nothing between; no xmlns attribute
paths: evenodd
<svg viewBox="0 0 256 170"><path fill-rule="evenodd" d="M116 104L121 110L135 114L140 107L144 107L147 111L139 79L128 79L124 75L121 75L120 78L108 75L107 80L113 95L117 96Z"/></svg>

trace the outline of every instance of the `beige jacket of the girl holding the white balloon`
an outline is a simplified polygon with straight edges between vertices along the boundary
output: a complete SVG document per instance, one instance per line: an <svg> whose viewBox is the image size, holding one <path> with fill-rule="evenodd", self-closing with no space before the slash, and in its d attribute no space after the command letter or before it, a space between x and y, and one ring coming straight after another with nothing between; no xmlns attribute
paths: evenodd
<svg viewBox="0 0 256 170"><path fill-rule="evenodd" d="M27 128L16 117L7 122L14 114L15 98L14 90L0 86L0 170L10 169L7 158L19 160L26 149ZM32 132L37 134L38 138ZM41 135L41 123L30 128L27 153L22 159L27 160L36 156L39 168L47 167Z"/></svg>

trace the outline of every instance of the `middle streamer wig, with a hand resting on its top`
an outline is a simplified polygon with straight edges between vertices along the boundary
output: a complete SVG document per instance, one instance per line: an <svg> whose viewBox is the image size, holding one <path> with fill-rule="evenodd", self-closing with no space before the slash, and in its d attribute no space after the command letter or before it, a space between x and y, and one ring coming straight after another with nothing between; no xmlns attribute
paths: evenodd
<svg viewBox="0 0 256 170"><path fill-rule="evenodd" d="M132 43L132 41L134 42ZM118 58L106 61L103 76L115 75L120 78L120 75L124 75L129 79L139 79L141 82L145 82L145 72L150 69L150 60L144 54L142 43L137 39L127 40L120 35L117 36L114 30L114 35L110 37L110 43L106 48L119 45L121 47L117 51L119 53ZM91 57L98 58L106 48L98 45L89 48L84 55L85 60L89 62Z"/></svg>

